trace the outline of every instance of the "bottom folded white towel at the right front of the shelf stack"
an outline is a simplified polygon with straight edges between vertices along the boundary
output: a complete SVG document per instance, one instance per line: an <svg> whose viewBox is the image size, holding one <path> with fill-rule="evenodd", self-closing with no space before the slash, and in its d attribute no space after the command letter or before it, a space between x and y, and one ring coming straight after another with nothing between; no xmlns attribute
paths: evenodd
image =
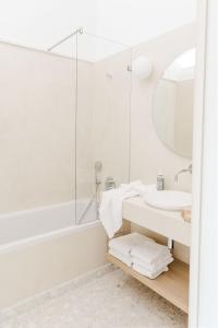
<svg viewBox="0 0 218 328"><path fill-rule="evenodd" d="M145 261L142 261L141 259L136 257L132 257L132 262L135 266L140 266L142 269L144 269L147 272L154 273L162 269L162 267L167 267L169 263L173 261L173 257L170 256L164 256L161 257L157 262L153 265L148 265Z"/></svg>

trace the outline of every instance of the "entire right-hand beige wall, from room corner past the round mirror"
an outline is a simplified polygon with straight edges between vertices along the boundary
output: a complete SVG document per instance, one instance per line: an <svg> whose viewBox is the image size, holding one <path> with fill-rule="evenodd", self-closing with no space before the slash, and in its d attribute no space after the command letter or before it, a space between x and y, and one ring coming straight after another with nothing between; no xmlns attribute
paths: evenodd
<svg viewBox="0 0 218 328"><path fill-rule="evenodd" d="M174 174L186 167L191 160L178 156L168 150L157 137L153 125L153 102L156 86L166 68L183 51L195 46L195 25L171 31L148 43L133 48L133 58L148 56L153 59L155 72L152 79L140 81L133 78L131 96L131 180L145 184L156 181L161 168L166 188L191 190L191 175ZM104 177L112 175L118 183L128 174L129 148L129 102L130 87L126 66L131 51L114 55L94 65L94 154L104 163ZM109 73L110 78L107 78ZM157 236L157 239L166 242ZM189 261L189 248L175 244L174 255Z"/></svg>

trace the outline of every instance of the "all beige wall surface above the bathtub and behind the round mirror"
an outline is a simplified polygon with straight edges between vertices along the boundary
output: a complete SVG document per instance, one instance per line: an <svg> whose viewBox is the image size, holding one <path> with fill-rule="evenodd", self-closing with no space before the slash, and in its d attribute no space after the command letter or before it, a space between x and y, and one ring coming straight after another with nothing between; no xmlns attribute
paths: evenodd
<svg viewBox="0 0 218 328"><path fill-rule="evenodd" d="M135 47L133 58L142 55L150 57L155 72L147 81L133 79L132 97L131 74L126 69L131 62L131 50L94 66L80 63L80 197L90 196L94 191L96 160L104 164L102 180L111 175L118 185L128 181L130 155L131 180L154 183L161 168L167 188L191 189L189 174L182 175L178 185L173 179L179 169L190 164L190 160L175 155L161 143L153 125L152 112L156 85L164 71L175 57L194 45L195 27L191 24ZM1 97L4 109L1 129L1 211L69 200L74 196L71 61L5 45L1 45L1 54L4 56L0 77L4 87ZM184 251L183 257L187 258Z"/></svg>

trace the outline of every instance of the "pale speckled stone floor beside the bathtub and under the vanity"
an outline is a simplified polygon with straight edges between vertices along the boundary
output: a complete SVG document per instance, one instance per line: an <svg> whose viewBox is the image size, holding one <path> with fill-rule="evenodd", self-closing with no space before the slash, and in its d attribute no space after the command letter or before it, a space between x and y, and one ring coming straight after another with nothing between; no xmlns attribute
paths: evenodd
<svg viewBox="0 0 218 328"><path fill-rule="evenodd" d="M170 328L186 327L181 311L114 270L66 293L31 306L1 328Z"/></svg>

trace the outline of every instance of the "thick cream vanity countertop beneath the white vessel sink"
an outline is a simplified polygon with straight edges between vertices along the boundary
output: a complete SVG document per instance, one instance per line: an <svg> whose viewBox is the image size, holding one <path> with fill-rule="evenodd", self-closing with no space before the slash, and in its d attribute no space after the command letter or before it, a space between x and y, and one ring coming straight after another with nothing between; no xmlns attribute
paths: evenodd
<svg viewBox="0 0 218 328"><path fill-rule="evenodd" d="M146 204L142 197L134 197L123 202L123 219L190 246L191 224L180 211L159 210Z"/></svg>

